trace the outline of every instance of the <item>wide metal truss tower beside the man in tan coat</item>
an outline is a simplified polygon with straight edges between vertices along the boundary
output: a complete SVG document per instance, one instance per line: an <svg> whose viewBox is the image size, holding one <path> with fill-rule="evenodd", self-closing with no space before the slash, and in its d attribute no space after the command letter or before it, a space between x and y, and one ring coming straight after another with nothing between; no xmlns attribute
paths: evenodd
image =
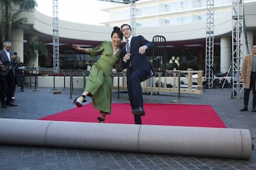
<svg viewBox="0 0 256 170"><path fill-rule="evenodd" d="M244 7L243 0L233 0L233 29L232 29L232 97L240 99L243 95L240 73L243 60L244 40Z"/></svg>

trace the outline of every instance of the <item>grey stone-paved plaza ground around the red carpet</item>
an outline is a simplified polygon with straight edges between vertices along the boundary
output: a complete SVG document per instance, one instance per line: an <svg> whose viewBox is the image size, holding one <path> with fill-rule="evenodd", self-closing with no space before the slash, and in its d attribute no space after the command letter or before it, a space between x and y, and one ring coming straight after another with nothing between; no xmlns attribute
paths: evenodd
<svg viewBox="0 0 256 170"><path fill-rule="evenodd" d="M53 94L61 91L61 94ZM0 108L0 118L38 119L74 108L74 98L83 89L16 89L18 107ZM71 96L72 95L72 96ZM252 96L252 93L250 94ZM251 97L250 96L250 97ZM177 94L143 95L144 102L171 103ZM181 104L211 105L228 128L249 129L256 137L256 113L239 111L242 99L231 99L231 89L205 89L202 95L181 94ZM91 102L90 97L87 97ZM113 103L128 102L126 92L113 91ZM252 99L249 100L252 103ZM147 111L147 110L146 110ZM86 113L85 113L86 114ZM147 112L146 112L147 115ZM1 134L0 134L1 136ZM255 145L255 141L253 141ZM103 144L104 145L104 144ZM184 155L109 152L73 148L0 145L0 169L256 169L256 153L250 160L207 158Z"/></svg>

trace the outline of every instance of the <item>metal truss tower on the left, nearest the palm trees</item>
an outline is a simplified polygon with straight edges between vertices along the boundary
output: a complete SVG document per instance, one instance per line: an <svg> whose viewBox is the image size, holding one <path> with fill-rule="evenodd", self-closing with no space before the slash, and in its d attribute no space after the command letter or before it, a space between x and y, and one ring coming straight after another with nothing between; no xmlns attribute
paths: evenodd
<svg viewBox="0 0 256 170"><path fill-rule="evenodd" d="M59 73L59 2L53 0L53 71Z"/></svg>

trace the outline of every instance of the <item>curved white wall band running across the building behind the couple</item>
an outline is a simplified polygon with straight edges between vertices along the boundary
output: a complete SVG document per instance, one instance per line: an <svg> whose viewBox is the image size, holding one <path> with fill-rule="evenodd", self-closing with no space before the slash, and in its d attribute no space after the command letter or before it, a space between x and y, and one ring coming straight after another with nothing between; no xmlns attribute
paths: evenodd
<svg viewBox="0 0 256 170"><path fill-rule="evenodd" d="M256 27L254 22L256 2L244 5L245 21L247 26ZM35 10L35 25L33 29L40 33L52 34L53 19ZM59 20L59 36L72 39L86 39L103 41L110 39L109 33L112 26L86 25ZM216 17L214 23L215 36L231 33L232 11L222 17ZM189 39L205 38L206 23L196 22L174 26L137 27L136 34L143 34L146 39L151 39L156 34L161 34L166 41L182 41Z"/></svg>

